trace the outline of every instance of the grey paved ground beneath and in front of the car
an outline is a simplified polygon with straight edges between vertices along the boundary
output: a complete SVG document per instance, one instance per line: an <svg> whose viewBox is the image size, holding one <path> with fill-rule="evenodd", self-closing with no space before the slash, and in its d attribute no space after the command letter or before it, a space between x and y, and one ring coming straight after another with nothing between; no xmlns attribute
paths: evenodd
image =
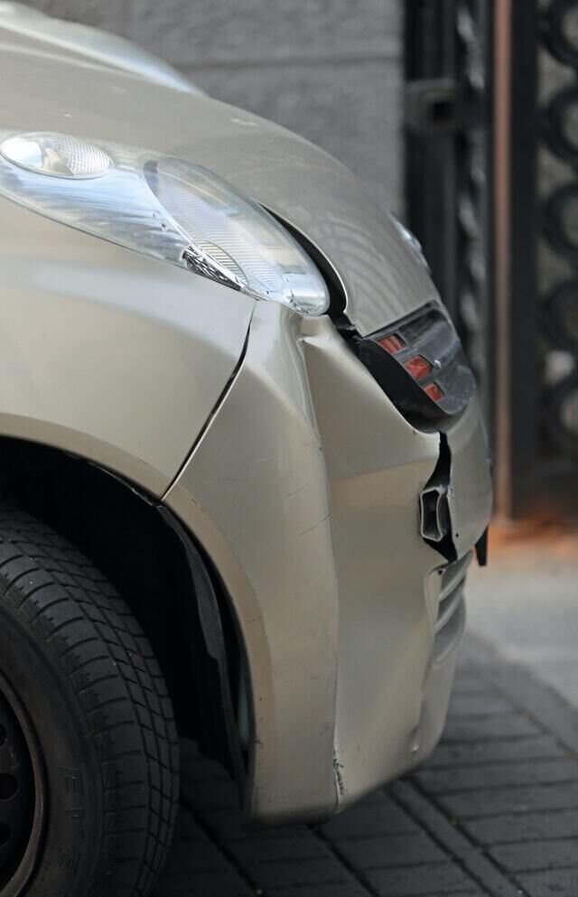
<svg viewBox="0 0 578 897"><path fill-rule="evenodd" d="M578 537L502 531L474 574L443 741L327 825L250 834L185 744L155 897L578 897Z"/></svg>

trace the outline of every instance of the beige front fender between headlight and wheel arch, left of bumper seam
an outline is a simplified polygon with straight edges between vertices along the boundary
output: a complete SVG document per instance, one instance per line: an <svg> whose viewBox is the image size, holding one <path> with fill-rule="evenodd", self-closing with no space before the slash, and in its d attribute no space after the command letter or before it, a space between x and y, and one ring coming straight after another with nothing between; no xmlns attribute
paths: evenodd
<svg viewBox="0 0 578 897"><path fill-rule="evenodd" d="M254 305L0 199L0 435L163 495L237 368Z"/></svg>

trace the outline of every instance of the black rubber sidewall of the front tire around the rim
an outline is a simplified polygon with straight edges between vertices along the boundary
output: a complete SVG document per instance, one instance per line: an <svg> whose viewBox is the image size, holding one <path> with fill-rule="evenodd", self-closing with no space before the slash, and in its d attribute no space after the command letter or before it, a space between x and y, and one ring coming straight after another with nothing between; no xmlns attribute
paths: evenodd
<svg viewBox="0 0 578 897"><path fill-rule="evenodd" d="M77 897L86 892L87 882L98 883L102 771L57 643L58 633L50 635L39 621L23 620L11 600L0 595L0 671L33 726L45 790L41 845L26 897ZM9 888L7 895L13 897Z"/></svg>

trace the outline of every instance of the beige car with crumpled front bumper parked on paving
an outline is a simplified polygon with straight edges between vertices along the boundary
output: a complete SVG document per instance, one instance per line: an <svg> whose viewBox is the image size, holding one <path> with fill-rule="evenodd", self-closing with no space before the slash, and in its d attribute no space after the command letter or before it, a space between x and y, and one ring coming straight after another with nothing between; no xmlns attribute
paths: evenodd
<svg viewBox="0 0 578 897"><path fill-rule="evenodd" d="M0 40L0 894L144 897L177 736L258 826L433 750L488 445L359 178L120 38Z"/></svg>

